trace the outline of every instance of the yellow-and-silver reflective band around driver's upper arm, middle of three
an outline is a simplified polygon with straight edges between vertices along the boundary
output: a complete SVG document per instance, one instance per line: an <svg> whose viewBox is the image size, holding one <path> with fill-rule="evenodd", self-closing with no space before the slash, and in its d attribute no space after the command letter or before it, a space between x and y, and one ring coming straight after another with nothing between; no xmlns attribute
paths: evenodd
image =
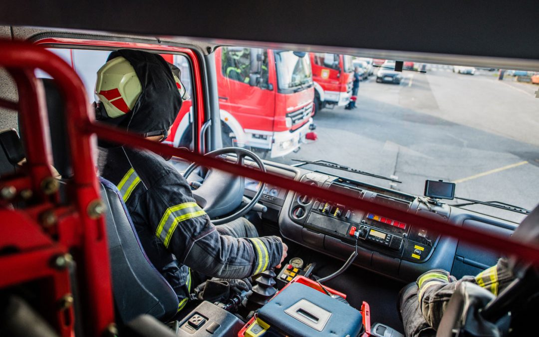
<svg viewBox="0 0 539 337"><path fill-rule="evenodd" d="M179 222L206 214L195 202L169 207L163 214L155 235L168 247L172 233Z"/></svg>

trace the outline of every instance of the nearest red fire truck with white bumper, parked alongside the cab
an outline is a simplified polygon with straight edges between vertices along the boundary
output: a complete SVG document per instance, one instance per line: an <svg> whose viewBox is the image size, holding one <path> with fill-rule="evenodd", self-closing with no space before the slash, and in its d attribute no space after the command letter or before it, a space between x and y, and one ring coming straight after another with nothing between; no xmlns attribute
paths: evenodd
<svg viewBox="0 0 539 337"><path fill-rule="evenodd" d="M306 55L244 47L216 51L223 146L247 147L272 158L299 149L314 129L314 88ZM172 126L167 141L174 146L185 144L190 135L188 111L182 107Z"/></svg>

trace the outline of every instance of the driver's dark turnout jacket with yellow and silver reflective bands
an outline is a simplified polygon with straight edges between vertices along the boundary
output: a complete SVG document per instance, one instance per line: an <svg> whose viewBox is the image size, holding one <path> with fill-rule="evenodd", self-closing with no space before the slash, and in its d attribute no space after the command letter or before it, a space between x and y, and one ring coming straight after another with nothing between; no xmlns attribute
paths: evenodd
<svg viewBox="0 0 539 337"><path fill-rule="evenodd" d="M120 190L144 251L178 295L178 310L194 287L190 269L241 279L280 263L278 237L221 235L185 178L161 156L127 147L100 149L99 169Z"/></svg>

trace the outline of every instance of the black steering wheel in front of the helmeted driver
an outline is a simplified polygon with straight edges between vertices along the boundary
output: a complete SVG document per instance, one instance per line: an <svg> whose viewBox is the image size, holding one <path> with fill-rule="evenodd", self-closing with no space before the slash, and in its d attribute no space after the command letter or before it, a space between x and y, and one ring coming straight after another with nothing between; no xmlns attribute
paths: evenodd
<svg viewBox="0 0 539 337"><path fill-rule="evenodd" d="M206 156L217 157L225 154L236 154L236 164L244 165L245 158L248 157L257 163L258 168L262 171L266 171L264 163L259 156L252 153L249 150L239 147L225 147L209 153ZM185 170L183 176L185 179L198 167L197 163L192 163ZM245 191L245 178L242 176L236 176L225 171L210 169L202 185L193 190L193 196L197 204L208 214L211 222L215 225L221 225L227 222L231 222L241 216L244 216L250 211L255 204L262 197L266 183L261 183L258 191L244 207L237 210L243 199ZM232 214L224 216L230 213L230 210L234 210ZM219 217L216 219L216 217Z"/></svg>

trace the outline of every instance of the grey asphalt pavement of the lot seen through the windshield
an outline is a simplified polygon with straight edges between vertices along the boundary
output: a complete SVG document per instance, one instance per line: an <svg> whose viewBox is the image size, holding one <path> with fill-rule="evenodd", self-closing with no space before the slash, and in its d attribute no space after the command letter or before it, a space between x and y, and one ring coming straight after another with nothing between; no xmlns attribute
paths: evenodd
<svg viewBox="0 0 539 337"><path fill-rule="evenodd" d="M425 180L457 183L455 196L533 209L539 203L539 86L478 70L456 74L431 65L403 72L400 85L361 82L357 109L322 109L319 139L273 159L328 160L402 183L308 165L355 180L423 195ZM454 203L456 201L448 201ZM520 222L522 215L490 207L476 211Z"/></svg>

